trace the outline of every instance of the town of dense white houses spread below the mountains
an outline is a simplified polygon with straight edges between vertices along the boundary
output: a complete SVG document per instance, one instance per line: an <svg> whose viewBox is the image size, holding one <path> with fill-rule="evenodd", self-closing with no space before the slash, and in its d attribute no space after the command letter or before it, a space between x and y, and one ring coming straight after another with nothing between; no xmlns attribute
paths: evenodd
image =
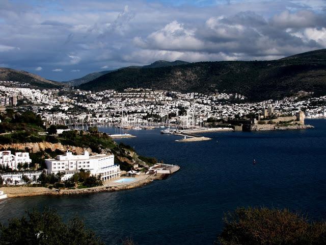
<svg viewBox="0 0 326 245"><path fill-rule="evenodd" d="M234 119L260 114L273 108L275 114L306 118L326 117L326 96L312 97L301 91L279 101L247 102L241 94L180 93L152 89L100 92L78 89L31 89L0 86L2 106L33 110L48 125L119 125L122 127L168 126L207 127L210 118ZM310 95L309 99L304 99Z"/></svg>

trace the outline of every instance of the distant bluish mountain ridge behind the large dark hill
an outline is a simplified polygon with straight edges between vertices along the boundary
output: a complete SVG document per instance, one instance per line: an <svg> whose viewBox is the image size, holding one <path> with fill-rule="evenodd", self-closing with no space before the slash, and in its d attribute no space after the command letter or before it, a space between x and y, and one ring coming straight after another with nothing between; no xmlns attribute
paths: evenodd
<svg viewBox="0 0 326 245"><path fill-rule="evenodd" d="M87 83L90 82L98 77L101 77L105 74L108 74L110 72L116 71L116 70L121 70L121 69L126 69L126 68L134 68L134 69L141 69L141 68L157 68L157 67L166 67L166 66L174 66L174 65L182 65L182 64L188 64L188 62L186 61L182 61L182 60L176 60L173 62L169 62L169 61L165 61L165 60L158 60L155 61L154 63L150 64L150 65L144 65L144 66L128 66L128 67L122 67L119 69L115 69L115 70L103 70L103 71L98 71L98 72L94 72L91 74L88 74L82 78L78 78L78 79L73 79L70 81L67 81L66 83L68 83L70 86L78 86L81 85L83 83Z"/></svg>

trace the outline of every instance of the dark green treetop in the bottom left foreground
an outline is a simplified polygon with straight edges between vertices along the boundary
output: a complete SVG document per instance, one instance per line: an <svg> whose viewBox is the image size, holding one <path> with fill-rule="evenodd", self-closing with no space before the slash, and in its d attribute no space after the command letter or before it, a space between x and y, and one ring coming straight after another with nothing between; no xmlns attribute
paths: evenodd
<svg viewBox="0 0 326 245"><path fill-rule="evenodd" d="M0 224L1 244L24 245L104 245L75 217L64 223L53 210L26 212L27 217L12 218L7 226Z"/></svg>

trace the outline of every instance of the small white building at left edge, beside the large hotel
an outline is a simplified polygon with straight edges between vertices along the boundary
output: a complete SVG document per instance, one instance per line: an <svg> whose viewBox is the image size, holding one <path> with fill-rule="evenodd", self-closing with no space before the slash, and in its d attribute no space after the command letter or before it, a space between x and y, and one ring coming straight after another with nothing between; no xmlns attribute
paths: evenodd
<svg viewBox="0 0 326 245"><path fill-rule="evenodd" d="M17 170L17 165L19 163L30 164L31 162L32 159L30 158L30 154L27 152L16 152L15 155L11 154L11 151L0 152L0 165L3 167L8 165L11 169Z"/></svg>

